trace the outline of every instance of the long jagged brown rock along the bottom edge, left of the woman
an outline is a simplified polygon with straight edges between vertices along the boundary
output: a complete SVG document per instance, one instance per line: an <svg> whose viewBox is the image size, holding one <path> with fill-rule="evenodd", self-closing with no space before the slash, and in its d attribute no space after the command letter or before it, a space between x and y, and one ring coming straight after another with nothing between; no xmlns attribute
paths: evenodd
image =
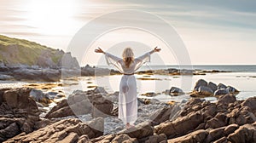
<svg viewBox="0 0 256 143"><path fill-rule="evenodd" d="M38 129L30 134L19 134L6 142L77 142L79 137L84 134L87 134L88 138L92 139L101 136L103 133L102 131L91 129L89 125L82 123L79 119L69 118Z"/></svg>

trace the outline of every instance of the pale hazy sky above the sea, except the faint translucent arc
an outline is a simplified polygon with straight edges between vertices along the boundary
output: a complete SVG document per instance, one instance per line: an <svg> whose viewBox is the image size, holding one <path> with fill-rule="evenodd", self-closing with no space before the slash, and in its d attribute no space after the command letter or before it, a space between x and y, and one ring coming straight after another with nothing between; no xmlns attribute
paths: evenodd
<svg viewBox="0 0 256 143"><path fill-rule="evenodd" d="M181 37L193 65L255 65L255 6L254 0L1 0L0 34L67 51L75 34L91 20L118 10L135 9L166 20ZM142 18L137 22L155 21ZM89 33L84 37L88 36ZM117 55L121 55L123 47L130 46L137 56L159 46L162 52L152 56L153 65L178 63L176 53L159 37L123 28L106 31L90 47L81 47L88 50L80 64L103 63L103 56L93 53L97 46Z"/></svg>

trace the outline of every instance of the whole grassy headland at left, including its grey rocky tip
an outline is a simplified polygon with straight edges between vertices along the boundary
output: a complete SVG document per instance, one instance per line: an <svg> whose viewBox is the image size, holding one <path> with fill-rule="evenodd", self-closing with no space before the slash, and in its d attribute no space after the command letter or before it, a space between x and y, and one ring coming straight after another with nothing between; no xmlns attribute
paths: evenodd
<svg viewBox="0 0 256 143"><path fill-rule="evenodd" d="M65 60L73 63L71 65L79 66L78 61L63 50L51 49L39 43L0 35L0 62L2 61L8 66L57 68L61 66L63 55L65 55Z"/></svg>

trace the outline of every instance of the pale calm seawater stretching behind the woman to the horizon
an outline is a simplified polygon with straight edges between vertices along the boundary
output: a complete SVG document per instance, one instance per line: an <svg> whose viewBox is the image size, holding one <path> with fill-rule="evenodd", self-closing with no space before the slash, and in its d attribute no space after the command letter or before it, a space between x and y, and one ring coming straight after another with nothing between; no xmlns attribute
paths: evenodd
<svg viewBox="0 0 256 143"><path fill-rule="evenodd" d="M114 69L113 66L100 66L104 68ZM158 70L158 69L194 69L201 71L217 70L220 72L209 72L206 75L185 75L185 76L166 76L166 75L135 75L137 77L137 96L139 98L156 99L162 102L176 101L182 102L189 100L189 92L191 92L195 83L199 79L204 79L212 83L224 83L232 86L240 91L236 95L238 100L246 100L247 98L256 96L256 65L213 65L213 66L142 66L139 71ZM55 90L62 90L65 94L72 94L74 90L90 90L96 86L103 87L108 93L119 91L119 82L122 75L111 75L101 77L78 77L77 80L61 80L58 83L65 83L64 87L55 87ZM148 79L148 80L145 80ZM32 82L19 81L1 81L0 88L20 87ZM38 83L38 82L37 82ZM45 82L44 82L45 83ZM165 91L177 87L183 89L186 93L180 96L166 95ZM154 97L146 97L142 94L155 93ZM215 97L207 97L205 100L216 101Z"/></svg>

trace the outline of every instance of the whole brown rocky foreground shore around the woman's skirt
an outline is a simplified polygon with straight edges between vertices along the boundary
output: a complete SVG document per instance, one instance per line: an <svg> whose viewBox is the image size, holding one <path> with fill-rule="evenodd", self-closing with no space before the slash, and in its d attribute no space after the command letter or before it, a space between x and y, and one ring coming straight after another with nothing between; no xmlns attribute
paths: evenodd
<svg viewBox="0 0 256 143"><path fill-rule="evenodd" d="M256 97L217 102L190 98L173 105L138 100L136 126L124 129L118 93L75 91L40 117L33 89L0 90L1 142L255 142ZM83 117L89 117L82 122Z"/></svg>

